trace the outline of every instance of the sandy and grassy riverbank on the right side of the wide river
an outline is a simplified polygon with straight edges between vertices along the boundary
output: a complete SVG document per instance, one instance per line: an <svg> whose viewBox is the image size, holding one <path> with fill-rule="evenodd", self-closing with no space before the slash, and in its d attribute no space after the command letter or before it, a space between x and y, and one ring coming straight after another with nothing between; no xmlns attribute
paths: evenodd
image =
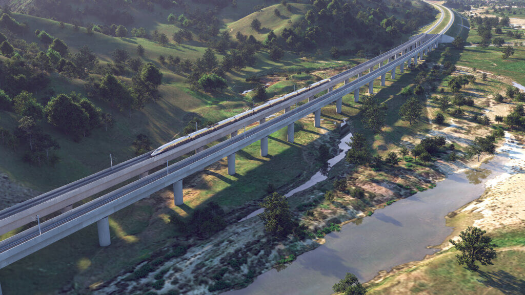
<svg viewBox="0 0 525 295"><path fill-rule="evenodd" d="M525 139L506 135L505 144L499 148L509 159L505 172L487 181L478 199L447 215L447 226L453 226L454 232L437 246L439 252L380 273L365 284L370 294L427 294L430 290L439 294L519 294L523 290ZM457 251L448 242L467 226L487 230L498 245L494 265L482 266L480 272L459 267L455 261ZM501 277L505 273L506 280Z"/></svg>

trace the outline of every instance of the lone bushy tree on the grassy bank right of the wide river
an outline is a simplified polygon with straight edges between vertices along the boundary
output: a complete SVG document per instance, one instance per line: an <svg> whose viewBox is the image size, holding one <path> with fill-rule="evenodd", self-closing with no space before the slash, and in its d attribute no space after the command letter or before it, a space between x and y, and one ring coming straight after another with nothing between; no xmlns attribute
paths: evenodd
<svg viewBox="0 0 525 295"><path fill-rule="evenodd" d="M481 262L481 265L492 265L492 259L496 258L496 245L492 244L490 237L485 236L486 233L487 231L478 227L469 226L459 234L460 240L449 240L450 244L461 251L461 254L456 255L459 265L466 265L470 270L479 268L476 261Z"/></svg>

